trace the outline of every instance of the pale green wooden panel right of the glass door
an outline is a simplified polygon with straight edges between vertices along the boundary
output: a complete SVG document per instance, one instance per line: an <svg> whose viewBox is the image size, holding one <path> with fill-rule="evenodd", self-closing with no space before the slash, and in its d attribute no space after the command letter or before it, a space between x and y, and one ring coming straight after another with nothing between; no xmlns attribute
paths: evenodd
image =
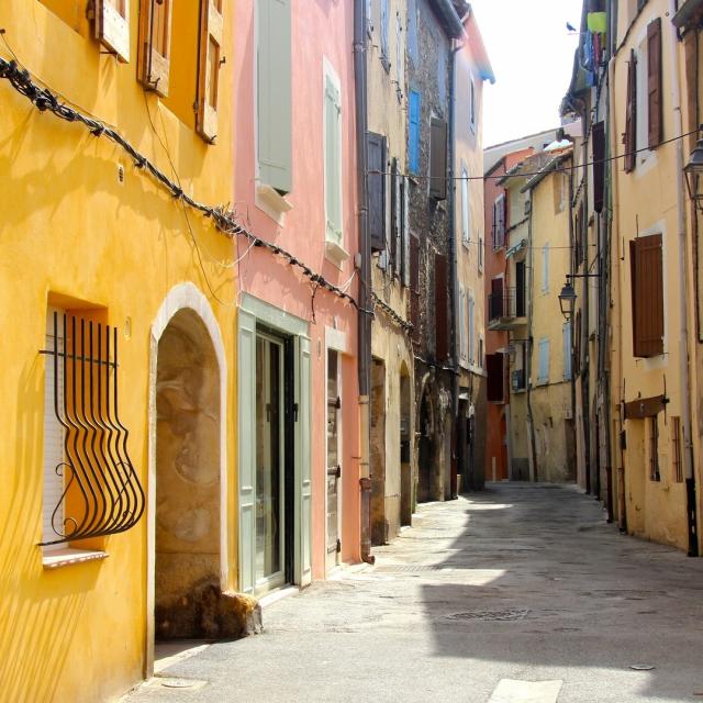
<svg viewBox="0 0 703 703"><path fill-rule="evenodd" d="M297 337L298 420L297 420L297 509L299 538L295 542L295 576L300 585L312 581L312 451L311 451L311 384L312 359L310 339Z"/></svg>

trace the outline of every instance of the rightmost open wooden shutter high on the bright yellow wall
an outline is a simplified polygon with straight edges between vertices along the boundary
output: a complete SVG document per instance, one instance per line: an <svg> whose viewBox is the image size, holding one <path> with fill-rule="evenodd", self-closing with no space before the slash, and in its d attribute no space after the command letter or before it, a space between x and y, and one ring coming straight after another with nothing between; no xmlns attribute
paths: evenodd
<svg viewBox="0 0 703 703"><path fill-rule="evenodd" d="M222 0L200 0L200 56L196 130L207 142L217 136L217 100L224 22Z"/></svg>

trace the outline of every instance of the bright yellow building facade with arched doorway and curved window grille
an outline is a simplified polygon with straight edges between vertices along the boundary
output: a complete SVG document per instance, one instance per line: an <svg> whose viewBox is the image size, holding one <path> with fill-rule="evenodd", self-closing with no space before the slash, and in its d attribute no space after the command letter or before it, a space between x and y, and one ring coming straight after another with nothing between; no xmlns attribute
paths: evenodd
<svg viewBox="0 0 703 703"><path fill-rule="evenodd" d="M233 191L231 5L83 7L3 13L9 701L114 698L155 637L202 634L203 589L236 588L233 243L186 200Z"/></svg>

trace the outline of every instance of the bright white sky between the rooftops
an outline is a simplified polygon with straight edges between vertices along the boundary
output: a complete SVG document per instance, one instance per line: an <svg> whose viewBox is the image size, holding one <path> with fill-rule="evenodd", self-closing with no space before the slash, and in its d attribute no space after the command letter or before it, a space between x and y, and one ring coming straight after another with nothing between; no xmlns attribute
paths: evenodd
<svg viewBox="0 0 703 703"><path fill-rule="evenodd" d="M484 83L483 144L559 125L581 23L581 0L471 0L495 74Z"/></svg>

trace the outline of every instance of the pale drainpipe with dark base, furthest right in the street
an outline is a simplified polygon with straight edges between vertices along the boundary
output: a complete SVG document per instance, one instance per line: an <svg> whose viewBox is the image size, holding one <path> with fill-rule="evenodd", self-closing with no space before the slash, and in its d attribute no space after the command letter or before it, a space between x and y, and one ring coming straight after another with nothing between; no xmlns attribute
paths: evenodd
<svg viewBox="0 0 703 703"><path fill-rule="evenodd" d="M677 11L676 0L669 0L671 16ZM681 89L679 85L679 63L677 46L679 36L677 27L670 24L671 37L669 48L671 52L671 93L673 98L673 112L676 114L677 134L683 134L683 114L681 112ZM683 186L683 142L677 140L677 210L679 235L679 394L681 397L681 415L683 420L683 466L687 486L687 515L689 522L689 556L698 557L698 515L695 509L695 477L693 475L693 443L691 437L691 389L689 381L689 299L688 299L688 261L685 236L685 198Z"/></svg>

